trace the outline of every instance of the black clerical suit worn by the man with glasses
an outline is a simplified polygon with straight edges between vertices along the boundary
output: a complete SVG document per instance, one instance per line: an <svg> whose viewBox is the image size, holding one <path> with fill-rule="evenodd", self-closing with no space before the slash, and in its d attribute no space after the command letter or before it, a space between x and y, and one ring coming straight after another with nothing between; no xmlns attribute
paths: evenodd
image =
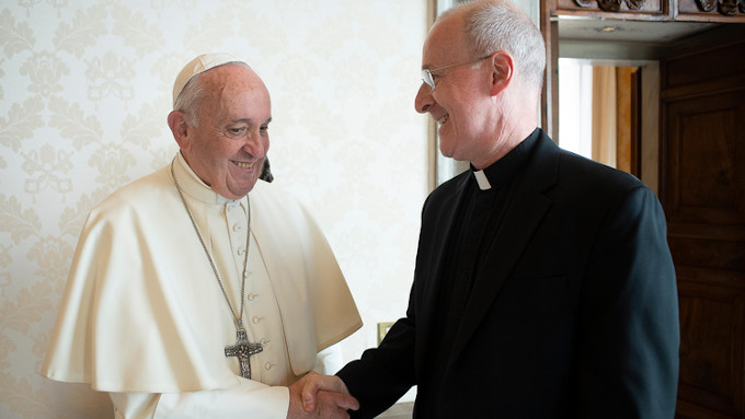
<svg viewBox="0 0 745 419"><path fill-rule="evenodd" d="M666 223L626 173L537 129L422 212L406 316L339 376L369 418L673 418L679 323Z"/></svg>

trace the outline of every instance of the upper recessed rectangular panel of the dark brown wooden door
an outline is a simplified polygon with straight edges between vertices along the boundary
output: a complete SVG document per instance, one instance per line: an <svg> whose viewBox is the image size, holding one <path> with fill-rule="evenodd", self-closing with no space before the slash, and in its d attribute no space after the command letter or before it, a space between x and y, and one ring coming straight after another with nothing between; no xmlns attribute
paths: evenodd
<svg viewBox="0 0 745 419"><path fill-rule="evenodd" d="M740 86L672 102L666 98L669 223L745 229L745 178L742 164L736 164L745 158L744 96L745 86Z"/></svg>

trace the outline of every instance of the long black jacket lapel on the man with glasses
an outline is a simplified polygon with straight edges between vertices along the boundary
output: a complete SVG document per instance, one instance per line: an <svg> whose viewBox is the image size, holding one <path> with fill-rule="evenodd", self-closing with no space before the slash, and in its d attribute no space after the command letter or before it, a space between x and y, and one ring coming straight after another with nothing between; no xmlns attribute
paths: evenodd
<svg viewBox="0 0 745 419"><path fill-rule="evenodd" d="M484 264L477 273L473 290L450 360L455 360L478 328L509 276L517 259L532 237L546 212L552 205L543 191L555 184L559 153L557 146L545 132L523 175L516 179L515 196L508 202L501 226L491 240Z"/></svg>

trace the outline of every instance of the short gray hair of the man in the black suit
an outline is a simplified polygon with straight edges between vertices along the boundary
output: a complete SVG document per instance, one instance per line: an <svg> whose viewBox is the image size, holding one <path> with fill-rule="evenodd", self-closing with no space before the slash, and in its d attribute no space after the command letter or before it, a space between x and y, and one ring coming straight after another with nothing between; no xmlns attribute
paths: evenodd
<svg viewBox="0 0 745 419"><path fill-rule="evenodd" d="M526 88L543 86L546 44L536 24L509 0L478 1L463 15L466 43L474 57L497 50L509 53ZM448 13L449 14L449 13Z"/></svg>

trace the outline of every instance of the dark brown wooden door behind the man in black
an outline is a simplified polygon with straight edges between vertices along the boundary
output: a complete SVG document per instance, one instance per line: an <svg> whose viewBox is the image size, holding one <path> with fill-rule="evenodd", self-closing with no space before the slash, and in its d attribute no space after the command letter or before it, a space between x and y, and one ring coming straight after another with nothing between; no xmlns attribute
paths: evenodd
<svg viewBox="0 0 745 419"><path fill-rule="evenodd" d="M678 278L678 418L745 418L745 36L661 60L661 185Z"/></svg>

